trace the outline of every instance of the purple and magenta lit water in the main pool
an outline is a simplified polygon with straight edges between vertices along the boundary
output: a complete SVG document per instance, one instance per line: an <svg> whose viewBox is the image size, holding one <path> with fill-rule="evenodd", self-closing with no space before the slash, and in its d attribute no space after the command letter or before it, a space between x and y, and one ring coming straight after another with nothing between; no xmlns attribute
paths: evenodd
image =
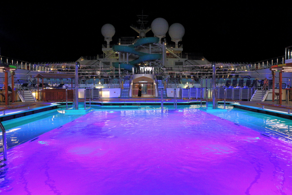
<svg viewBox="0 0 292 195"><path fill-rule="evenodd" d="M193 109L93 111L8 150L1 194L292 194L291 143Z"/></svg>

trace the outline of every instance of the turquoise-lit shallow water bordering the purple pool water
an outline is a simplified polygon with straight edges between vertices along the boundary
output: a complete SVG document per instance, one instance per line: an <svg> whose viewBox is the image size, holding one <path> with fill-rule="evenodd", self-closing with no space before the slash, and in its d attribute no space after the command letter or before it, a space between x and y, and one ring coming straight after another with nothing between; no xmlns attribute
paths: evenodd
<svg viewBox="0 0 292 195"><path fill-rule="evenodd" d="M184 111L187 109L199 109L199 104L195 105L180 105L177 110ZM210 104L211 106L211 104ZM219 108L224 108L223 105L218 105ZM93 106L96 110L160 110L160 106ZM209 114L224 118L231 122L249 127L253 130L261 132L265 135L276 137L278 139L291 142L292 140L292 121L284 118L279 118L271 115L244 111L238 108L233 108L232 105L226 105L228 110L216 110ZM164 109L173 110L173 105L164 106ZM46 111L43 113L26 116L10 121L2 122L6 129L7 146L11 148L21 143L34 139L39 135L58 128L67 122L79 118L81 115L67 115L60 111ZM1 132L0 132L1 136ZM2 139L0 141L2 144ZM2 147L1 150L2 151Z"/></svg>

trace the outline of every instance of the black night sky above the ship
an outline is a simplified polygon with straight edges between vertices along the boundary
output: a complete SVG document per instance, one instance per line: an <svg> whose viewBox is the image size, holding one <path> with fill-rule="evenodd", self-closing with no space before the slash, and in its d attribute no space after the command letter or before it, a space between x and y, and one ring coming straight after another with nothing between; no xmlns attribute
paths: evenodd
<svg viewBox="0 0 292 195"><path fill-rule="evenodd" d="M149 26L158 17L185 27L185 53L203 53L209 61L256 62L283 56L292 45L292 6L236 2L138 3L139 1L95 1L61 4L1 3L1 55L28 62L76 61L80 56L102 54L106 44L102 25L114 25L119 37L138 36L136 25L142 10ZM155 1L151 1L155 2ZM183 3L182 3L183 2ZM147 37L153 36L152 31ZM167 33L166 39L173 44Z"/></svg>

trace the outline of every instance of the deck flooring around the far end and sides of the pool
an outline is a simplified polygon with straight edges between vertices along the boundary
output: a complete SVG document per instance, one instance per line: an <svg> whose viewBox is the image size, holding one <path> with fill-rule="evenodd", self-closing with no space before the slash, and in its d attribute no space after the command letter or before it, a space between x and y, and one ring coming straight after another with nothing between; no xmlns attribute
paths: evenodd
<svg viewBox="0 0 292 195"><path fill-rule="evenodd" d="M131 101L131 99L133 99L133 101ZM111 99L104 99L106 101L103 101L104 103L124 103L124 100L126 100L126 103L132 103L134 102L134 99L136 100L135 103L142 103L142 102L145 102L145 99L147 99L147 103L150 103L150 102L156 102L159 103L159 101L161 101L160 98L153 98L153 97L142 97L141 100L137 100L139 98L137 97L133 97L133 98L111 98ZM167 98L167 99L171 99L171 98ZM194 101L197 101L197 100L194 100ZM99 102L99 101L98 101ZM165 102L165 101L164 101ZM173 103L173 99L171 100L168 100L167 101L168 103ZM177 102L188 102L187 100L182 100L182 99L177 99ZM192 100L190 100L190 102L192 102ZM290 101L290 104L285 104L286 101L282 101L282 105L283 106L292 106L292 102ZM51 103L53 102L43 102L43 101L36 101L36 102L15 102L11 105L13 106L21 106L21 105L24 105L24 104L27 104L27 103L35 103L36 105L35 106L30 106L29 109L34 109L34 108L40 108L40 107L44 107L44 106L50 106ZM252 106L252 107L257 107L257 108L262 108L262 106L260 105L257 105L257 103L271 103L271 104L276 104L276 101L273 103L272 101L264 101L264 102L258 102L258 101L238 101L239 105L243 105L243 106ZM1 108L6 108L6 106L4 105L4 103L1 103L0 104L0 109ZM270 110L274 110L274 111L280 111L280 112L288 112L287 109L284 109L284 108L275 108L275 107L265 107L267 109L270 109ZM9 114L9 113L13 113L13 112L20 112L20 111L25 111L27 110L27 108L15 108L15 109L11 109L11 110L7 110L5 112L5 114ZM2 115L2 113L0 114L0 116Z"/></svg>

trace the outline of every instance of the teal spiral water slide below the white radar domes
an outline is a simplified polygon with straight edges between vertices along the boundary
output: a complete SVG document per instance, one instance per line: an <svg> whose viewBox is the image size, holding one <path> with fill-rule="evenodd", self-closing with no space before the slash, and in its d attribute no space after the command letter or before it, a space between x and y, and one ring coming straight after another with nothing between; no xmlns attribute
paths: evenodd
<svg viewBox="0 0 292 195"><path fill-rule="evenodd" d="M152 61L160 59L162 54L147 54L144 52L136 51L135 48L138 46L141 46L143 44L153 44L158 43L159 38L158 37L145 37L142 39L138 39L135 44L129 45L129 46L122 46L122 45L114 45L112 49L117 52L126 52L130 54L134 54L136 56L140 56L138 59L129 61L129 64L114 62L113 66L114 68L123 68L125 70L132 70L135 65L144 62L144 61Z"/></svg>

